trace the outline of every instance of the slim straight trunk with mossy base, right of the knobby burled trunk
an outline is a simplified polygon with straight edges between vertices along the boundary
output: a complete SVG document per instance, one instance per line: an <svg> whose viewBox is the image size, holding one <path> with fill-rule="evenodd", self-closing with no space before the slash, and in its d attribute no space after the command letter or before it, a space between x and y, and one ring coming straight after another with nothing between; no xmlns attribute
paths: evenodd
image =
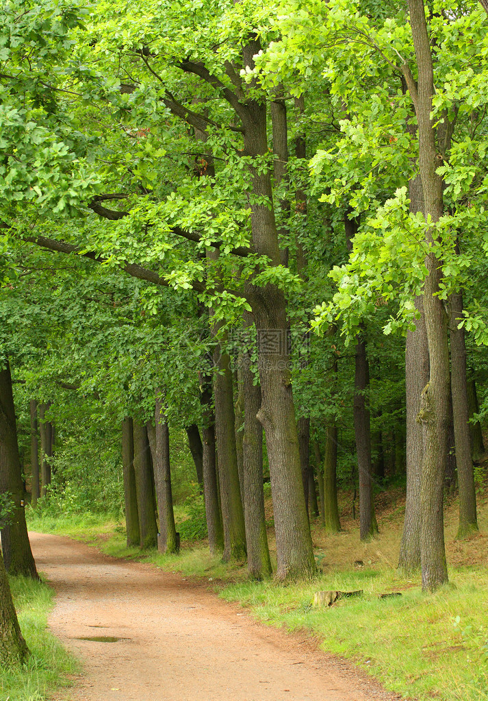
<svg viewBox="0 0 488 701"><path fill-rule="evenodd" d="M464 329L459 329L463 317L463 295L449 297L451 315L449 335L451 338L451 393L456 444L456 466L459 482L459 529L458 538L466 538L477 531L475 475L471 457L469 430L468 380L466 376L466 342Z"/></svg>

